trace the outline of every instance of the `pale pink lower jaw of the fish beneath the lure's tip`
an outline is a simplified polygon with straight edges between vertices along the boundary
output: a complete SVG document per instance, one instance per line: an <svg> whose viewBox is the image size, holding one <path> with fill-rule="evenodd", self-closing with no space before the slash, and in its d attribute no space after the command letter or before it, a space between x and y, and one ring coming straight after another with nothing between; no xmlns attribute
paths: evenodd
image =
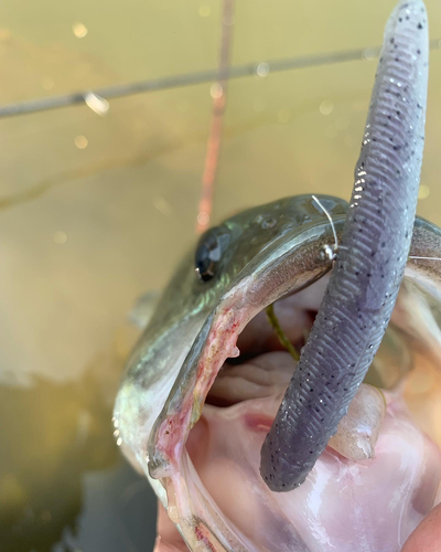
<svg viewBox="0 0 441 552"><path fill-rule="evenodd" d="M401 550L433 507L441 453L401 400L387 402L374 458L349 460L326 447L304 484L284 493L259 474L278 400L205 405L166 482L191 550L353 552L361 539L366 551Z"/></svg>

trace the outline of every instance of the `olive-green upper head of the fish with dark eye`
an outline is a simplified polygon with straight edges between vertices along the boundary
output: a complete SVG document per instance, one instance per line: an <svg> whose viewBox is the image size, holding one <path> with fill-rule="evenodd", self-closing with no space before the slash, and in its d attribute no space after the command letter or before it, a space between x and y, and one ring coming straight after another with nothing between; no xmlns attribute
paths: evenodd
<svg viewBox="0 0 441 552"><path fill-rule="evenodd" d="M334 225L340 227L347 203L331 197L320 198ZM319 279L330 269L330 264L321 259L321 250L332 243L332 236L319 204L311 195L301 195L254 208L224 221L208 230L184 256L127 361L115 408L116 431L118 435L125 434L123 449L137 452L144 471L148 442L154 450L153 424L160 415L165 415L166 408L172 408L173 397L181 403L186 386L195 384L196 359L216 309L222 309L227 300L224 296L237 294L250 282L258 294L261 274L276 276L276 266L282 266L286 258L290 262L292 252L297 252L299 259L308 252L308 267L294 268L295 282L288 286L282 283L281 288L287 287L290 293ZM201 263L207 259L211 259L209 276L201 274ZM300 263L300 267L305 264ZM273 300L271 287L277 286L269 286L268 304ZM203 397L200 404L202 401ZM131 454L129 450L127 454Z"/></svg>

